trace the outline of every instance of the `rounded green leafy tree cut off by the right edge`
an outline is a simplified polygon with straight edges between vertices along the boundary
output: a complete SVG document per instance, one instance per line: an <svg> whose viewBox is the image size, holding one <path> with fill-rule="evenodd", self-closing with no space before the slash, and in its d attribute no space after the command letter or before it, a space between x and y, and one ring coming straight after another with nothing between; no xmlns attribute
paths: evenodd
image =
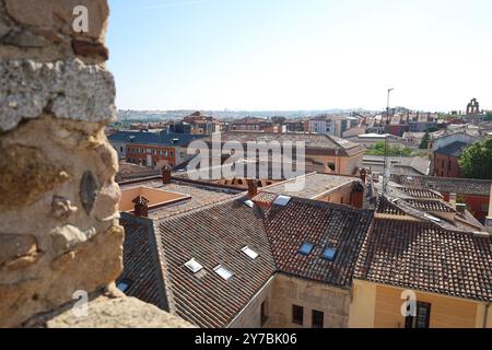
<svg viewBox="0 0 492 350"><path fill-rule="evenodd" d="M467 148L461 153L459 166L464 177L492 179L492 138Z"/></svg>

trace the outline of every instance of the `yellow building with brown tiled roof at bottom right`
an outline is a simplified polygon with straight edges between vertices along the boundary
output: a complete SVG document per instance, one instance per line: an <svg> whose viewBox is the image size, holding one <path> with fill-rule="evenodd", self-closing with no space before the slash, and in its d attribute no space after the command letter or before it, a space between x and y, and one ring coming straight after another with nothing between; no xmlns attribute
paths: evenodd
<svg viewBox="0 0 492 350"><path fill-rule="evenodd" d="M492 328L491 267L487 234L375 218L354 272L349 327Z"/></svg>

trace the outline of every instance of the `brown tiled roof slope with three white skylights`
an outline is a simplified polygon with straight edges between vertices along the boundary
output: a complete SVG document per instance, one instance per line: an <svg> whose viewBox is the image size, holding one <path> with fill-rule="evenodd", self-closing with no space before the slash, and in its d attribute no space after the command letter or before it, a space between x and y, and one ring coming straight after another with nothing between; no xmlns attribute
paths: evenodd
<svg viewBox="0 0 492 350"><path fill-rule="evenodd" d="M200 327L226 326L276 270L261 214L244 200L227 200L156 226L173 307ZM251 260L241 252L244 246L259 256ZM191 258L202 271L194 275L183 266ZM234 273L231 280L213 271L218 265Z"/></svg>

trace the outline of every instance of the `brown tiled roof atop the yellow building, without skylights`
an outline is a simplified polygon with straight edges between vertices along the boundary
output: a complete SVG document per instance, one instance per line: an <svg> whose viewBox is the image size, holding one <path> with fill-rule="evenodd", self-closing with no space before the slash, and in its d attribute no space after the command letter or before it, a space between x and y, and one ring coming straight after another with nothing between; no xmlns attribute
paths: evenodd
<svg viewBox="0 0 492 350"><path fill-rule="evenodd" d="M432 223L375 219L354 277L490 302L491 240Z"/></svg>

